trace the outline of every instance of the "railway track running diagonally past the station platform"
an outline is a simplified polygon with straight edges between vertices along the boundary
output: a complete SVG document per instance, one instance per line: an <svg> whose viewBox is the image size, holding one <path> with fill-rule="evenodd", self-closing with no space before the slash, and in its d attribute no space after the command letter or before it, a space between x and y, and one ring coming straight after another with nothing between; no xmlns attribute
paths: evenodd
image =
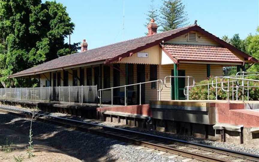
<svg viewBox="0 0 259 162"><path fill-rule="evenodd" d="M0 111L18 116L30 116L29 111L21 111L0 106ZM136 132L127 129L103 126L94 123L72 120L62 117L53 117L45 114L37 114L37 120L58 124L65 127L73 127L77 130L89 132L135 145L172 153L197 161L206 162L259 162L259 156L237 152L229 149L222 149L213 146L192 143L184 140L178 140L157 135Z"/></svg>

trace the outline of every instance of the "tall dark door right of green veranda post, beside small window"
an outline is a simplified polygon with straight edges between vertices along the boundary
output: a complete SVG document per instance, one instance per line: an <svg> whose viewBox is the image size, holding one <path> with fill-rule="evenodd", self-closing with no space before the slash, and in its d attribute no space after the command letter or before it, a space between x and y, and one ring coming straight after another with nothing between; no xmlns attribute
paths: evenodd
<svg viewBox="0 0 259 162"><path fill-rule="evenodd" d="M137 82L145 82L145 65L142 64L138 64L137 65ZM139 85L137 85L137 101L139 104ZM145 103L145 84L141 85L141 104Z"/></svg>

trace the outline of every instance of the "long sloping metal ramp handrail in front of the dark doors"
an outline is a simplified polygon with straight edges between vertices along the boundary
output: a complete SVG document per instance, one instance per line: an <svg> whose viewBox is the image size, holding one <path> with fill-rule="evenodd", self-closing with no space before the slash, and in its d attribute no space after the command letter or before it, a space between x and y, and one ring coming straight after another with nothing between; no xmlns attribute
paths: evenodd
<svg viewBox="0 0 259 162"><path fill-rule="evenodd" d="M152 80L152 81L148 81L148 82L140 82L140 83L135 83L135 84L129 84L129 85L121 85L118 87L111 87L111 88L104 88L104 89L99 89L97 91L97 97L98 99L100 99L100 107L102 106L102 93L101 91L105 91L105 90L112 90L112 106L113 106L113 89L115 88L125 88L124 89L124 106L127 106L127 87L129 86L133 86L133 85L139 85L139 105L141 105L141 84L146 84L146 83L152 83L152 82L157 82L157 100L161 100L161 91L163 90L163 81L162 80ZM161 84L159 84L159 82ZM160 86L159 86L160 85ZM100 94L100 96L99 96Z"/></svg>

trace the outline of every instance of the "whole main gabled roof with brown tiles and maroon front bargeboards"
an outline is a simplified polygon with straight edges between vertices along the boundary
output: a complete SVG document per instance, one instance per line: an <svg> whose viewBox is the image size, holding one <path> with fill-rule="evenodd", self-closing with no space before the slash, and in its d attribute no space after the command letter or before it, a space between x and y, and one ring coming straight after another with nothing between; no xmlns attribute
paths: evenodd
<svg viewBox="0 0 259 162"><path fill-rule="evenodd" d="M237 54L240 54L245 59L250 60L252 62L258 62L252 56L245 54L244 52L238 50L232 45L224 42L218 37L212 35L211 33L205 31L201 27L197 25L190 25L187 27L181 27L174 30L169 30L163 33L157 33L151 36L143 36L136 39L127 40L124 42L119 42L107 46L103 46L100 48L91 49L85 52L80 52L76 54L71 54L67 56L62 56L57 59L53 59L51 61L45 62L43 64L37 65L35 67L26 69L24 71L20 71L16 74L10 75L10 77L20 77L26 75L34 75L44 73L46 71L56 71L61 68L72 67L75 65L83 65L97 61L105 61L105 63L116 62L121 60L124 57L131 56L133 53L138 51L150 48L154 45L159 45L162 41L168 41L170 39L181 36L185 33L189 33L190 31L198 31L206 36L210 37L214 41L218 42L225 48L228 48L231 51L235 51Z"/></svg>

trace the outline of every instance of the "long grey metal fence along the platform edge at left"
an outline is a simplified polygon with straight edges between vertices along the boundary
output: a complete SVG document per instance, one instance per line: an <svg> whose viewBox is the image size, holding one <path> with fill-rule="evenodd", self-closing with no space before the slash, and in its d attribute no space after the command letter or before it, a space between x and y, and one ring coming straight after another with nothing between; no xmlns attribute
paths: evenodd
<svg viewBox="0 0 259 162"><path fill-rule="evenodd" d="M0 88L1 100L22 100L37 102L97 103L97 85Z"/></svg>

